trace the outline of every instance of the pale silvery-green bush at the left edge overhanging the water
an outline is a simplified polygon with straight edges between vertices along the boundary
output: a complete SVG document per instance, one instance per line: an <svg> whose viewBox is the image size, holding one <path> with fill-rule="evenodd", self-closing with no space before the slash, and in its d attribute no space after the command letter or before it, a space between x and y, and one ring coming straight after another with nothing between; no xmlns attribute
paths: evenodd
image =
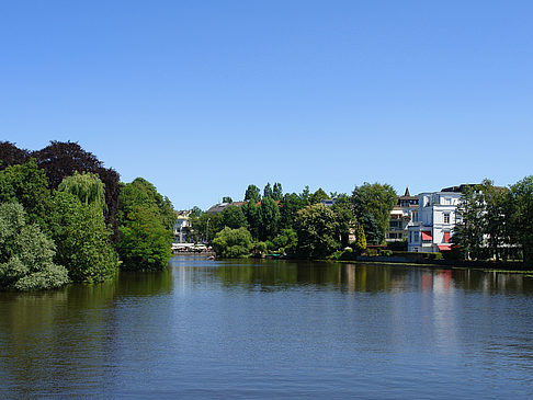
<svg viewBox="0 0 533 400"><path fill-rule="evenodd" d="M37 290L69 282L68 272L53 262L54 242L36 224L26 225L21 204L0 205L0 288Z"/></svg>

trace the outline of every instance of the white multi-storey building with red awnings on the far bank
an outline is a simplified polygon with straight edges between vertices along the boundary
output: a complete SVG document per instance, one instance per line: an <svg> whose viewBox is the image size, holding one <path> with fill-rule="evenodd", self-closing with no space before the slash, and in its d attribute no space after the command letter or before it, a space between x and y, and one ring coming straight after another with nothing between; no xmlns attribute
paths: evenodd
<svg viewBox="0 0 533 400"><path fill-rule="evenodd" d="M457 206L461 192L455 188L418 195L418 213L412 213L408 227L410 252L439 252L451 250L450 238L455 224L461 221Z"/></svg>

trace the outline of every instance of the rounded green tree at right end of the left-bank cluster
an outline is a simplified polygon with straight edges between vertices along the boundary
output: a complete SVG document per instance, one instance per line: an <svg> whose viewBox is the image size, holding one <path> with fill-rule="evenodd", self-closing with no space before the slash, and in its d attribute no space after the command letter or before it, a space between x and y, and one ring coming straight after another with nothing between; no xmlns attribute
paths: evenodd
<svg viewBox="0 0 533 400"><path fill-rule="evenodd" d="M117 251L123 270L160 271L168 266L173 235L157 208L134 206L118 229Z"/></svg>

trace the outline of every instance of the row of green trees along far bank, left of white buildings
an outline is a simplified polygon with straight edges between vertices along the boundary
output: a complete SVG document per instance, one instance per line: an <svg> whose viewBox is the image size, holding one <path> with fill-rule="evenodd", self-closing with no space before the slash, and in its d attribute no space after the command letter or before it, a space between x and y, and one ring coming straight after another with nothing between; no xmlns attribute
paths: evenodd
<svg viewBox="0 0 533 400"><path fill-rule="evenodd" d="M322 201L332 202L327 206ZM196 241L212 240L217 254L227 258L279 252L318 259L345 248L362 251L367 243L384 241L397 195L390 185L379 183L364 183L351 195L327 194L322 188L310 193L308 186L284 194L280 183L268 183L262 193L250 184L243 202L217 214L194 207L190 235Z"/></svg>

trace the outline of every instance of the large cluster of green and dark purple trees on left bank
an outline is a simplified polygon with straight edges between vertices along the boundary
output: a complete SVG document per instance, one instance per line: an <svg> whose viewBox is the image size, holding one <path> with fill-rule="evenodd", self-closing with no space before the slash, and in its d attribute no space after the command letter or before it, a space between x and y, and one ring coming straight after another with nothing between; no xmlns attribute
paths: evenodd
<svg viewBox="0 0 533 400"><path fill-rule="evenodd" d="M162 270L175 213L148 181L120 182L77 142L0 141L0 289L97 283Z"/></svg>

